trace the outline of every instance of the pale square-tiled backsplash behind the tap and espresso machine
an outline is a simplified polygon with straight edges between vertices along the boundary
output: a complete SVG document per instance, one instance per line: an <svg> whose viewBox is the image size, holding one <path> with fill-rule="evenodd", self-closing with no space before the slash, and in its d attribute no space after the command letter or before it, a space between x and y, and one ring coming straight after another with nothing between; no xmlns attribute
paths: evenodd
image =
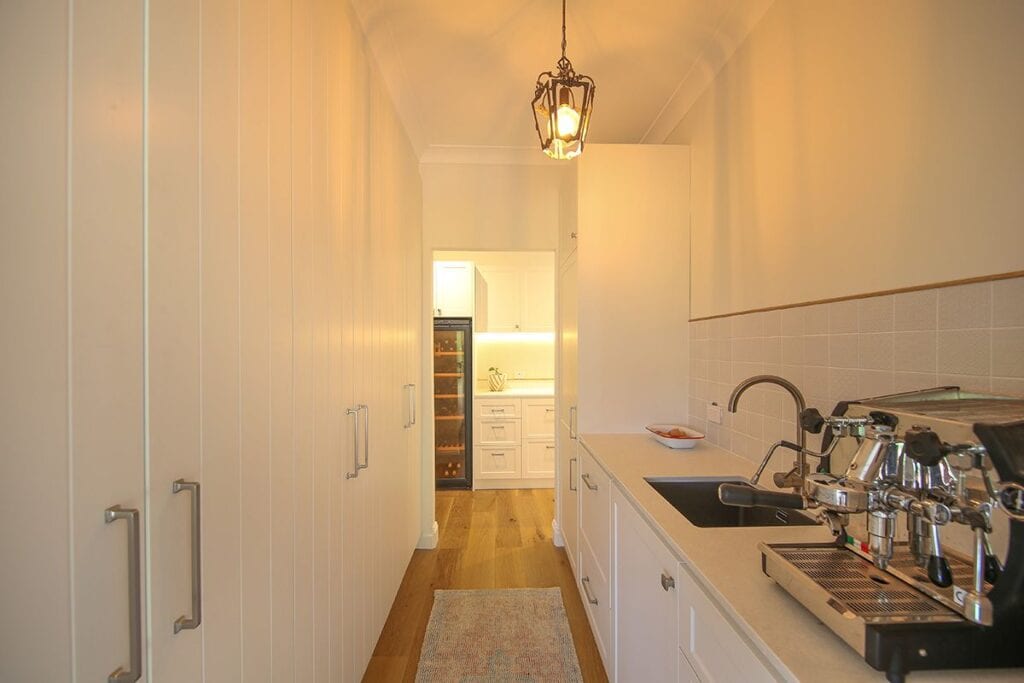
<svg viewBox="0 0 1024 683"><path fill-rule="evenodd" d="M690 424L759 462L793 439L795 408L780 389L754 387L739 411L707 421L752 375L780 375L807 404L955 384L1024 396L1024 278L746 313L690 327ZM812 445L814 443L812 442ZM776 458L775 468L792 460ZM783 462L785 461L785 462Z"/></svg>

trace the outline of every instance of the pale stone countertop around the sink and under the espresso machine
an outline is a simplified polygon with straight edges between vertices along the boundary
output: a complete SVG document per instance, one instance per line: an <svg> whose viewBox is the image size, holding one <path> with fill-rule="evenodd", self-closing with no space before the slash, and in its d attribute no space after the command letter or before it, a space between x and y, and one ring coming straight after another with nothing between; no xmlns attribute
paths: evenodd
<svg viewBox="0 0 1024 683"><path fill-rule="evenodd" d="M761 571L759 542L829 542L824 526L700 528L648 484L651 476L748 477L755 465L702 442L674 451L646 434L584 434L581 441L655 532L786 680L884 681L864 659ZM920 681L1021 681L1014 669L912 672Z"/></svg>

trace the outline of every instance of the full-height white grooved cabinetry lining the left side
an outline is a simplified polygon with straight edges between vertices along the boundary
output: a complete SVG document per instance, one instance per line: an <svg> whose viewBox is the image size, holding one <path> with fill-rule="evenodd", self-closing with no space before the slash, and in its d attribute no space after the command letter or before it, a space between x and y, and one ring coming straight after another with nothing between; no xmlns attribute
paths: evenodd
<svg viewBox="0 0 1024 683"><path fill-rule="evenodd" d="M0 8L0 680L358 680L419 536L415 154L346 3L73 10Z"/></svg>

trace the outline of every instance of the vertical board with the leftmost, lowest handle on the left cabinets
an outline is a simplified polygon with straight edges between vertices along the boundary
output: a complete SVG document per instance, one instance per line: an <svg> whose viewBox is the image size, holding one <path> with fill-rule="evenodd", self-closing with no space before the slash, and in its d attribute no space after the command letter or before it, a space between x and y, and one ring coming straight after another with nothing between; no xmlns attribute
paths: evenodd
<svg viewBox="0 0 1024 683"><path fill-rule="evenodd" d="M144 579L127 520L143 506L143 8L76 5L70 148L71 468L74 639L80 681L129 668L128 557ZM145 543L144 529L139 540ZM142 588L141 586L139 587ZM142 593L144 595L144 591Z"/></svg>

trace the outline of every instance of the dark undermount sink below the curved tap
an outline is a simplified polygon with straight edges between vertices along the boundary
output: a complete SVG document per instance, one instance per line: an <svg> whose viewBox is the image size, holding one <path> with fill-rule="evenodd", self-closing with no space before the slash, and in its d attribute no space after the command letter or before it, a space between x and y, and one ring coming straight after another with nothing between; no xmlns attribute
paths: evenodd
<svg viewBox="0 0 1024 683"><path fill-rule="evenodd" d="M718 500L719 485L746 484L740 477L650 477L645 481L694 526L812 526L817 523L796 510L739 508Z"/></svg>

